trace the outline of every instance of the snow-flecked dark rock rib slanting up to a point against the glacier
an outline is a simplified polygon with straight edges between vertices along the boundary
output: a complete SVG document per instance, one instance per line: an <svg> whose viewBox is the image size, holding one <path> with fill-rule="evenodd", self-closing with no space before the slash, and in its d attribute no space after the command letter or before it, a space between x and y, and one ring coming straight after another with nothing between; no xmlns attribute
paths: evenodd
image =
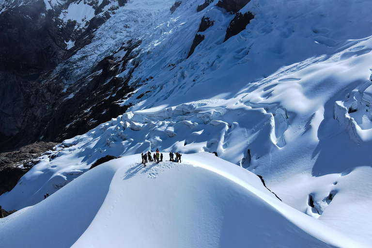
<svg viewBox="0 0 372 248"><path fill-rule="evenodd" d="M131 96L129 93L134 91L128 86L130 73L133 71L125 80L114 76L124 71L127 63L138 55L132 51L140 43L141 41L129 41L122 47L127 52L121 61L115 62L112 56L107 57L93 69L93 72L102 69L101 74L83 78L71 85L65 95L73 93L74 97L62 101L54 111L43 133L43 140L62 142L123 114L131 104L120 106L115 102ZM106 99L108 96L110 97Z"/></svg>

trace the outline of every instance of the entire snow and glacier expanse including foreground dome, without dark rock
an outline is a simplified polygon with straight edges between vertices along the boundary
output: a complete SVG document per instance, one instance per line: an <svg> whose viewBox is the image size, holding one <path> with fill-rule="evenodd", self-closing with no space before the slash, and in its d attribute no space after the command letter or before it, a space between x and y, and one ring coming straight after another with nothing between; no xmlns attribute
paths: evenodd
<svg viewBox="0 0 372 248"><path fill-rule="evenodd" d="M79 78L141 37L134 105L0 196L1 246L372 247L372 2L251 0L226 42L233 15L203 2L129 1L70 59ZM143 167L156 148L182 163Z"/></svg>

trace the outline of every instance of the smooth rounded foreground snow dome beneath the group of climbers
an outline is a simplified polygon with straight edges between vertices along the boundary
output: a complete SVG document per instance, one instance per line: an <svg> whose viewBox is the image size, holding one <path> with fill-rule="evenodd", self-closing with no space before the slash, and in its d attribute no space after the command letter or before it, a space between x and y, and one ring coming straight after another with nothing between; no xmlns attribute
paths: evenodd
<svg viewBox="0 0 372 248"><path fill-rule="evenodd" d="M138 155L111 160L1 219L0 241L28 248L362 247L208 153L147 167Z"/></svg>

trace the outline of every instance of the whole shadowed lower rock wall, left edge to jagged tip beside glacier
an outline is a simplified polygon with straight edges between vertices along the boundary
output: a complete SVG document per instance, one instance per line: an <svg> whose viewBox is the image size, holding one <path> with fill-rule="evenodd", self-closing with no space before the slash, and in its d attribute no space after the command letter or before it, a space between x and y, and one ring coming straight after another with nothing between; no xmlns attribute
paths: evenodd
<svg viewBox="0 0 372 248"><path fill-rule="evenodd" d="M94 76L78 80L65 92L59 76L52 78L45 74L37 81L28 81L0 72L3 99L0 101L0 151L11 151L38 140L61 142L123 114L130 104L119 106L115 101L133 91L128 87L130 74L126 80L114 76L137 56L138 53L132 51L140 43L128 42L122 47L127 52L121 61L105 58L93 68ZM100 70L102 73L97 74ZM114 96L106 99L111 94Z"/></svg>

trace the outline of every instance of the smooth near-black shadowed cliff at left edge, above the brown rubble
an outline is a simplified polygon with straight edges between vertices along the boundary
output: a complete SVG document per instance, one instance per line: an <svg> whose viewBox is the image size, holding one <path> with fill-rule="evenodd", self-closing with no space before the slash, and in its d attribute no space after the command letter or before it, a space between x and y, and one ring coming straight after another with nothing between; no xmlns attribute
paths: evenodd
<svg viewBox="0 0 372 248"><path fill-rule="evenodd" d="M45 116L53 112L62 85L28 81L0 72L0 151L37 141Z"/></svg>

